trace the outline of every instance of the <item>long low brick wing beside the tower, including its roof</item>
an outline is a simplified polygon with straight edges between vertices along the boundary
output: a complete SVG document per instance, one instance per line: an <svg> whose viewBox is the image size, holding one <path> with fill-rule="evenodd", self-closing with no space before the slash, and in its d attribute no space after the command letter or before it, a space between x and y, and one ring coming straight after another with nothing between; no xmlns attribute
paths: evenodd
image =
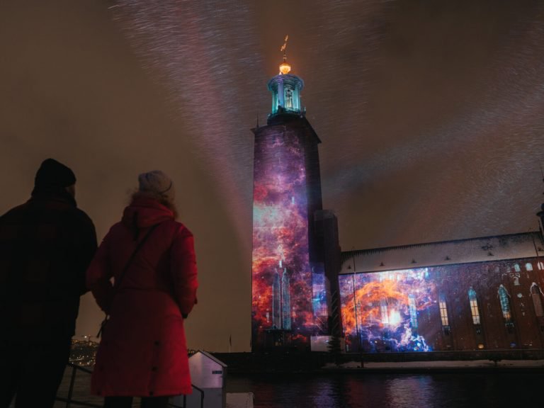
<svg viewBox="0 0 544 408"><path fill-rule="evenodd" d="M349 351L544 348L540 232L342 254Z"/></svg>

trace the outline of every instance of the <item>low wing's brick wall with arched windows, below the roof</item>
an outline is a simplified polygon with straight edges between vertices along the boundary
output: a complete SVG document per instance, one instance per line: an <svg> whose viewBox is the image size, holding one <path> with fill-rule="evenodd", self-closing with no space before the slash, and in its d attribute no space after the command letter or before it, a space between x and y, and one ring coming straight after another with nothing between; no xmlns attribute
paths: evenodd
<svg viewBox="0 0 544 408"><path fill-rule="evenodd" d="M539 348L544 263L466 263L339 276L351 351Z"/></svg>

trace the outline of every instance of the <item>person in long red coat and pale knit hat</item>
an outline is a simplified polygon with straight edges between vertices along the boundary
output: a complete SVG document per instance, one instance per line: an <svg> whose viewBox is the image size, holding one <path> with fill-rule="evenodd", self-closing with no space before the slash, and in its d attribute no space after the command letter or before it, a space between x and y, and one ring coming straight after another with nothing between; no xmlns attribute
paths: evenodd
<svg viewBox="0 0 544 408"><path fill-rule="evenodd" d="M142 397L142 407L166 407L169 396L191 393L183 319L196 304L193 234L176 221L166 174L150 171L138 180L139 191L86 274L110 316L91 378L104 407L132 407L132 397Z"/></svg>

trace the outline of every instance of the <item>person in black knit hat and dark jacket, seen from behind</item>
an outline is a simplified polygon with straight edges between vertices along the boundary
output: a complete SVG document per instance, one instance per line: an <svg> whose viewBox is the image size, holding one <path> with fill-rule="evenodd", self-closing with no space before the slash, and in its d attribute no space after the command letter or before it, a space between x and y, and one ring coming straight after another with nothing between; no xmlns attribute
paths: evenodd
<svg viewBox="0 0 544 408"><path fill-rule="evenodd" d="M32 196L0 217L0 407L52 407L96 251L76 177L42 162Z"/></svg>

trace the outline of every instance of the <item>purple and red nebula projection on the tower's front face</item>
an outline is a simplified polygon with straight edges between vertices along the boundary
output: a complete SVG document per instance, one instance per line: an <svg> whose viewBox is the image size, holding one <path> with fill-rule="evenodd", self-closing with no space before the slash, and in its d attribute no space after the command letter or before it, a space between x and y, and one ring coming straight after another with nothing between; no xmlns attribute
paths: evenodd
<svg viewBox="0 0 544 408"><path fill-rule="evenodd" d="M304 147L283 126L256 132L252 327L306 342L313 325Z"/></svg>

